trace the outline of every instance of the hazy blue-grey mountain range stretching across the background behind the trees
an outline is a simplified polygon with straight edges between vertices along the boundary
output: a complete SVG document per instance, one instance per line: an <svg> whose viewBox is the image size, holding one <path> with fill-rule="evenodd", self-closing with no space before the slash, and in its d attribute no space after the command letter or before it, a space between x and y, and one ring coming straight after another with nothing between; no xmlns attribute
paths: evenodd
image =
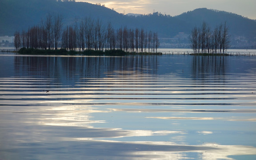
<svg viewBox="0 0 256 160"><path fill-rule="evenodd" d="M158 32L159 37L166 43L188 43L188 40L176 39L189 35L191 29L200 26L203 21L211 28L227 22L234 45L246 43L244 45L256 46L256 21L230 12L199 8L178 16L163 15L159 12L124 15L100 4L60 0L0 0L0 36L11 36L17 30L22 31L40 24L48 13L62 15L64 25L74 24L76 20L90 16L100 18L106 24L111 22L115 28L144 28Z"/></svg>

